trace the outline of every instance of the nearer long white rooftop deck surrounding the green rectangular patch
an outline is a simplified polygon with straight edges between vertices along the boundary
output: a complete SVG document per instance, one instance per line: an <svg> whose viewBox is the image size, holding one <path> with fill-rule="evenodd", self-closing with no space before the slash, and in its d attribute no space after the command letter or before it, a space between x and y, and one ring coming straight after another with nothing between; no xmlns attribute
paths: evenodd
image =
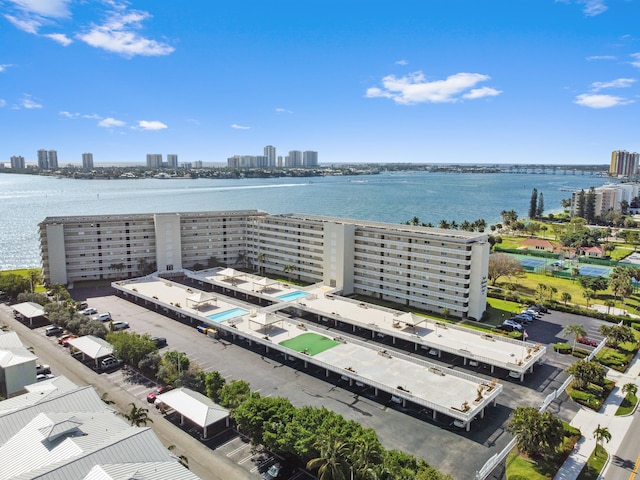
<svg viewBox="0 0 640 480"><path fill-rule="evenodd" d="M484 415L488 405L495 405L496 397L502 392L502 385L488 383L464 372L443 368L428 361L409 357L398 352L387 352L382 347L365 343L357 338L327 334L326 329L288 318L247 305L222 295L206 294L212 298L199 307L188 304L188 297L200 292L194 288L149 276L112 284L122 294L135 296L145 304L155 304L158 308L173 310L196 319L196 323L210 324L227 335L238 335L248 341L264 345L296 358L307 364L335 372L352 382L360 382L378 390L397 396L402 401L410 400L430 409L432 414L445 413L466 423ZM204 298L204 297L203 297ZM326 300L331 301L331 300ZM233 308L243 308L250 313L219 323L207 319L208 315ZM360 307L356 307L360 308ZM304 332L315 332L340 344L315 356L279 345L280 342ZM400 388L399 388L400 387ZM478 389L483 391L479 398Z"/></svg>

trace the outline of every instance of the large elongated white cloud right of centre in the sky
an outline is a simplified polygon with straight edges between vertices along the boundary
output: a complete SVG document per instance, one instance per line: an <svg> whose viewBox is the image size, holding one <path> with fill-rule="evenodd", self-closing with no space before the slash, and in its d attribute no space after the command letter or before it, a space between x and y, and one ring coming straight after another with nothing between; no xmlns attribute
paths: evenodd
<svg viewBox="0 0 640 480"><path fill-rule="evenodd" d="M491 77L479 73L456 73L445 80L427 81L420 71L404 77L388 75L382 79L383 88L372 87L367 90L368 98L389 98L402 105L413 103L450 103L464 99L475 99L499 95L494 88L473 89L479 82Z"/></svg>

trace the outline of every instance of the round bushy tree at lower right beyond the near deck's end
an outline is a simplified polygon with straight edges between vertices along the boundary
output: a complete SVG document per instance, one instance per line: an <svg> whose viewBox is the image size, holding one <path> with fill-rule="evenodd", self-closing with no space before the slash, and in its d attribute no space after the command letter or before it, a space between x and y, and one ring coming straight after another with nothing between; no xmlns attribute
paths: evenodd
<svg viewBox="0 0 640 480"><path fill-rule="evenodd" d="M562 421L551 412L534 407L517 407L511 412L507 431L516 435L518 449L529 456L553 450L563 437Z"/></svg>

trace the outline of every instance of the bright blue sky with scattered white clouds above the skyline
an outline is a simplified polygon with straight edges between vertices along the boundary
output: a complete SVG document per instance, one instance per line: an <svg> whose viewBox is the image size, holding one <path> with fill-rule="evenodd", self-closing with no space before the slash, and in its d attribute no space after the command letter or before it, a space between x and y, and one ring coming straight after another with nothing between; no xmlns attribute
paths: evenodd
<svg viewBox="0 0 640 480"><path fill-rule="evenodd" d="M0 161L606 164L639 0L0 0Z"/></svg>

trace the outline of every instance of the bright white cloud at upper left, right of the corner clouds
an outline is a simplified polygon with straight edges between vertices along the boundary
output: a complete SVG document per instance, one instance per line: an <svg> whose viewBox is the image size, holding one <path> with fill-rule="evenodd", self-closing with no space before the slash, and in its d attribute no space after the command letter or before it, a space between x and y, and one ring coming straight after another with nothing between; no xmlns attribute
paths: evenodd
<svg viewBox="0 0 640 480"><path fill-rule="evenodd" d="M138 35L141 22L151 15L142 11L112 12L103 25L94 25L87 33L77 38L92 47L108 52L119 53L127 57L136 55L169 55L175 49L166 44Z"/></svg>

